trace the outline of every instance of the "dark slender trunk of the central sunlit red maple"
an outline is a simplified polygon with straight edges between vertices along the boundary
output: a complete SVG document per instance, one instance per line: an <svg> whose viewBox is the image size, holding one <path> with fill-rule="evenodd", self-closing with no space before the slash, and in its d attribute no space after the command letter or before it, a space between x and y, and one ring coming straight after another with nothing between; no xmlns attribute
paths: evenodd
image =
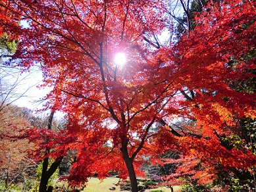
<svg viewBox="0 0 256 192"><path fill-rule="evenodd" d="M126 164L126 168L129 173L132 192L138 192L138 182L137 182L136 174L134 171L133 159L130 158L128 155L127 146L123 145L121 151L122 151L122 157L124 158L124 162Z"/></svg>

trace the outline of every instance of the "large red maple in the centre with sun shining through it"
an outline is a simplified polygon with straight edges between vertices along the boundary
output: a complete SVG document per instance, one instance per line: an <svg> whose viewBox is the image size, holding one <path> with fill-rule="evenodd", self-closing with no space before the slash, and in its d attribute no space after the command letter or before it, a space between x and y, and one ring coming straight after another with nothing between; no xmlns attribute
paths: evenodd
<svg viewBox="0 0 256 192"><path fill-rule="evenodd" d="M190 34L165 47L151 39L174 30L168 1L0 2L28 22L20 29L4 23L20 40L14 58L25 68L41 64L43 86L53 87L47 107L68 117L65 132L28 132L38 139L36 156L78 150L71 185L116 170L138 191L143 157L160 163L167 149L237 170L254 166L246 147L228 149L220 139L239 132L240 119L255 118L255 93L236 90L254 77L254 58L241 59L255 48L253 1L209 1ZM120 52L122 66L114 62ZM176 118L196 125L176 131L169 126Z"/></svg>

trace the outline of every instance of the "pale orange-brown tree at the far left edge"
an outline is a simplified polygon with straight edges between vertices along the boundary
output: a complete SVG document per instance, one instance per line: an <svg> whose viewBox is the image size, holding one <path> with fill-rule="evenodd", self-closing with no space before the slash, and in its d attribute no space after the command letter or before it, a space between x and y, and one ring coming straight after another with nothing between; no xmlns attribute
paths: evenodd
<svg viewBox="0 0 256 192"><path fill-rule="evenodd" d="M34 145L28 139L10 139L7 135L18 135L24 127L30 127L23 118L21 108L14 105L3 105L0 108L0 170L1 180L5 181L5 189L13 183L24 181L35 168L34 161L28 158L27 150Z"/></svg>

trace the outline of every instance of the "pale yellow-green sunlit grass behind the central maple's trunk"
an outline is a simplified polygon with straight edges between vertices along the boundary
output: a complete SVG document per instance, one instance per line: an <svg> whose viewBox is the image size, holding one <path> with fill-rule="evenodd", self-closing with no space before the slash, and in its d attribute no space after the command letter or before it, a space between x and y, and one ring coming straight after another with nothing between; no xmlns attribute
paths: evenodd
<svg viewBox="0 0 256 192"><path fill-rule="evenodd" d="M97 178L91 178L88 182L86 189L84 189L84 191L86 192L111 191L109 188L116 187L115 192L117 192L117 191L120 191L120 187L115 185L115 183L117 183L118 180L119 180L118 178L107 178L103 181L99 181ZM160 187L158 189L161 189L166 192L170 192L170 189L166 187ZM178 189L180 189L179 186L174 187L174 191L177 191ZM151 190L153 189L150 189L150 190L147 189L146 191L151 191Z"/></svg>

